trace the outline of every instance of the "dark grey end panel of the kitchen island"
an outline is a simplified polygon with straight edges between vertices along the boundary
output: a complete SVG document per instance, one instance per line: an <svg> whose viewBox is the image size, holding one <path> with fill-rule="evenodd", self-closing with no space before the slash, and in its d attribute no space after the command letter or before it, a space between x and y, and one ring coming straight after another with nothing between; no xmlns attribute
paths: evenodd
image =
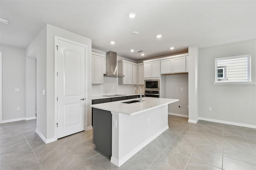
<svg viewBox="0 0 256 170"><path fill-rule="evenodd" d="M93 115L95 150L110 159L112 155L112 114L110 111L93 108Z"/></svg>

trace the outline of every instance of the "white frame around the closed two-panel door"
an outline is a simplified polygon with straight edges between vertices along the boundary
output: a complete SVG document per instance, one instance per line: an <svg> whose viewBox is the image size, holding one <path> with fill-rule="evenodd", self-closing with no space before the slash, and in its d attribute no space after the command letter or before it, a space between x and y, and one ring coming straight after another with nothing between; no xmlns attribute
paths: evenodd
<svg viewBox="0 0 256 170"><path fill-rule="evenodd" d="M84 57L85 57L85 59L84 59L84 61L85 61L85 113L84 113L84 115L85 115L85 120L84 120L84 129L86 130L86 127L87 127L87 113L88 113L88 108L87 108L87 106L88 106L88 76L87 76L87 74L88 74L88 47L87 47L87 45L84 45L84 44L82 44L82 43L78 43L78 42L74 42L74 41L72 41L72 40L68 40L68 39L66 39L66 38L61 38L61 37L58 37L58 36L54 36L54 118L55 118L55 120L54 120L54 130L55 130L55 135L54 135L54 138L55 138L55 140L57 140L58 139L58 129L57 129L57 125L56 125L56 123L58 123L57 121L58 121L58 105L57 105L57 92L58 92L58 80L57 80L57 70L58 70L58 50L57 50L57 47L56 47L56 45L57 45L57 42L58 42L58 40L62 40L62 41L65 41L65 42L69 42L69 43L73 43L73 44L76 44L76 45L80 45L80 46L82 46L82 47L84 47L84 49L85 49L85 51L84 51Z"/></svg>

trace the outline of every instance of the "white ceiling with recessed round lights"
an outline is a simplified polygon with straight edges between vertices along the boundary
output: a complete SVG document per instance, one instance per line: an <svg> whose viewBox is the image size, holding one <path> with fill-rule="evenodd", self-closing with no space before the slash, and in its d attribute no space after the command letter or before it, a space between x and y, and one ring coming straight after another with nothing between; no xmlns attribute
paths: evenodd
<svg viewBox="0 0 256 170"><path fill-rule="evenodd" d="M136 18L128 18L128 13ZM48 23L141 60L256 38L256 1L0 1L0 43L26 48ZM133 36L132 32L139 34ZM162 34L157 39L156 35ZM110 41L116 44L111 45ZM174 46L174 50L170 47ZM145 56L131 53L143 49Z"/></svg>

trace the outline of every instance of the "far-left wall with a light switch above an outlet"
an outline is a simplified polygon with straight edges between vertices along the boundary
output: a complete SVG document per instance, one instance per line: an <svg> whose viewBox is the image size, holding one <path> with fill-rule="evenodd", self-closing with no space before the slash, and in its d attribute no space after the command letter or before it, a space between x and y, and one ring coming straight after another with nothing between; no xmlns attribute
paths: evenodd
<svg viewBox="0 0 256 170"><path fill-rule="evenodd" d="M26 117L25 49L0 45L2 51L2 120ZM20 88L20 92L15 92ZM20 111L17 111L20 107Z"/></svg>

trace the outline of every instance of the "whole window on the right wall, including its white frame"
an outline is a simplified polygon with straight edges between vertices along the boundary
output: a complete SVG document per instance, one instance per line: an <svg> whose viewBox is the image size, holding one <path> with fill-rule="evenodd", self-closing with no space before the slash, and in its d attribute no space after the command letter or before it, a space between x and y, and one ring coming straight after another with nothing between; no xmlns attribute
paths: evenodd
<svg viewBox="0 0 256 170"><path fill-rule="evenodd" d="M215 82L250 82L250 55L215 59Z"/></svg>

